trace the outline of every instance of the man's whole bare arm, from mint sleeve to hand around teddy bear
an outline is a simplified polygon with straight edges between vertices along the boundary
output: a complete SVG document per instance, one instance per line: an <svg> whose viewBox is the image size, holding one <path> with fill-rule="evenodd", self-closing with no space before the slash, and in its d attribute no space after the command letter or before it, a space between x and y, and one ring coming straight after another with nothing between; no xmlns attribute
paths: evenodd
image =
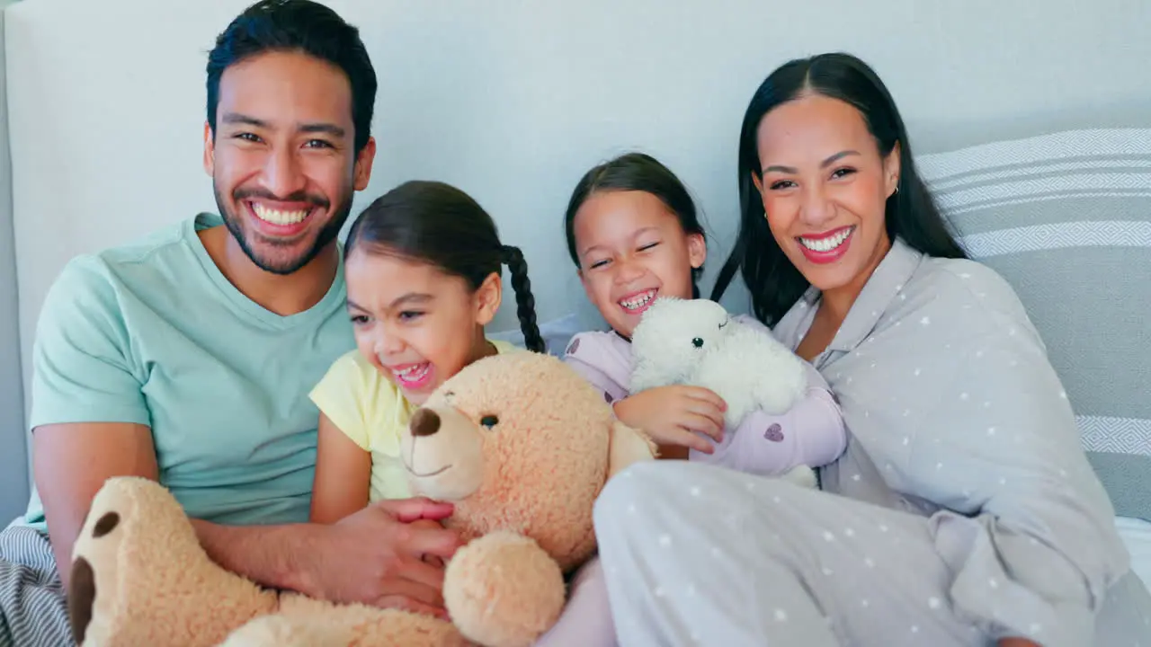
<svg viewBox="0 0 1151 647"><path fill-rule="evenodd" d="M43 425L35 431L33 451L36 484L67 587L73 545L104 482L125 475L157 480L152 435L144 425L123 423ZM451 531L407 524L450 513L451 505L412 498L369 505L335 526L221 526L199 519L192 525L213 561L261 585L442 615L443 571L421 556L450 557L459 540Z"/></svg>

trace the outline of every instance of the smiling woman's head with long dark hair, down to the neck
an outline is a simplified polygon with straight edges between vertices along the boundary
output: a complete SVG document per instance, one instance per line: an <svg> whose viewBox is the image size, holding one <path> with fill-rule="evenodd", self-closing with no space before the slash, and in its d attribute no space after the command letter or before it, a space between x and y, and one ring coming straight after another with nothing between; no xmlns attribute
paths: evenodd
<svg viewBox="0 0 1151 647"><path fill-rule="evenodd" d="M837 289L857 294L895 237L966 258L918 178L886 87L836 55L821 62L772 73L741 128L739 237L711 296L740 271L768 325L813 284L832 302Z"/></svg>

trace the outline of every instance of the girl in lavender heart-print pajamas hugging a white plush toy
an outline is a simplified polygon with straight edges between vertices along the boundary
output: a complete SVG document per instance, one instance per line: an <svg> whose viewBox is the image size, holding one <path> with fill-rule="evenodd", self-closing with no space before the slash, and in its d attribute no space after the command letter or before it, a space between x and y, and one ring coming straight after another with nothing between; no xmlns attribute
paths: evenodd
<svg viewBox="0 0 1151 647"><path fill-rule="evenodd" d="M699 296L695 279L707 256L691 196L668 168L637 153L593 168L569 204L566 230L588 297L612 329L576 335L564 359L603 391L622 421L646 429L665 452L762 475L801 464L818 467L844 451L839 406L810 366L805 399L782 416L753 412L738 429L724 428L723 401L706 389L676 386L628 393L627 337L657 296ZM741 319L771 334L754 319ZM572 645L615 644L597 561L579 573L564 617L540 645L558 645L561 635L576 640Z"/></svg>

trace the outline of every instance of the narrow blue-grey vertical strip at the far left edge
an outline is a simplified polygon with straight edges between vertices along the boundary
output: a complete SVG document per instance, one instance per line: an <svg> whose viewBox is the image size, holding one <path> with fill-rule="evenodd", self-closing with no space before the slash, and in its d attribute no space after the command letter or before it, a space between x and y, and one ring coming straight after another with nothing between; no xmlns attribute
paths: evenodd
<svg viewBox="0 0 1151 647"><path fill-rule="evenodd" d="M16 314L8 101L5 92L3 9L10 3L12 0L0 0L0 526L24 511L29 482Z"/></svg>

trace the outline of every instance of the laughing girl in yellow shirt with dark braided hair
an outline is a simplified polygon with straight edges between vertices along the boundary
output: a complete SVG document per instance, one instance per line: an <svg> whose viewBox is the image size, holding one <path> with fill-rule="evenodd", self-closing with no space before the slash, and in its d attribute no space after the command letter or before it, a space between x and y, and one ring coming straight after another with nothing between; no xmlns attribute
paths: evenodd
<svg viewBox="0 0 1151 647"><path fill-rule="evenodd" d="M483 327L511 271L528 349L544 351L527 264L463 191L409 182L357 218L344 246L357 349L312 390L320 409L312 520L335 523L381 498L410 496L401 432L436 387L468 364L517 350Z"/></svg>

